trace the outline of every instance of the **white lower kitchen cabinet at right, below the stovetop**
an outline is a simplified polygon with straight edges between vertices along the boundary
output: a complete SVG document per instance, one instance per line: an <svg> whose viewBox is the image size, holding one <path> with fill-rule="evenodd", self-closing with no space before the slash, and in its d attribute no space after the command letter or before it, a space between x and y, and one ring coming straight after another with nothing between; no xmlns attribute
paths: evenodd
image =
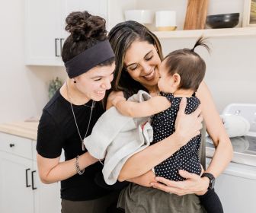
<svg viewBox="0 0 256 213"><path fill-rule="evenodd" d="M212 149L212 148L211 148ZM207 151L210 148L206 147ZM213 156L214 151L210 151ZM234 154L238 154L237 152ZM242 158L240 161L242 161ZM211 159L206 157L207 167ZM224 212L252 213L255 211L256 167L230 162L226 170L216 178L215 190L222 201Z"/></svg>

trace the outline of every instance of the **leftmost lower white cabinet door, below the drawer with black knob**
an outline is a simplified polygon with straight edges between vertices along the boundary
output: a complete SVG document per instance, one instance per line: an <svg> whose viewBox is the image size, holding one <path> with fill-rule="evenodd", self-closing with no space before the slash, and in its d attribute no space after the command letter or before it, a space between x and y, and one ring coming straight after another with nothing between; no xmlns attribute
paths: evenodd
<svg viewBox="0 0 256 213"><path fill-rule="evenodd" d="M0 212L34 212L31 168L31 160L0 151Z"/></svg>

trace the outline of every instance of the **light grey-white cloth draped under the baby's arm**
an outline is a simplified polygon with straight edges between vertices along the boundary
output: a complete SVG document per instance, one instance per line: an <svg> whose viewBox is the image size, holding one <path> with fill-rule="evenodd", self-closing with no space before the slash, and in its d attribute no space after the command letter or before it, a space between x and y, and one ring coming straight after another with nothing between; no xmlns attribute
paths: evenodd
<svg viewBox="0 0 256 213"><path fill-rule="evenodd" d="M129 100L142 102L149 98L150 95L145 91L139 91ZM117 177L126 160L148 147L152 139L153 129L149 124L149 117L123 116L115 107L110 107L98 119L91 135L85 138L84 143L93 157L105 158L102 173L105 182L112 185L117 182Z"/></svg>

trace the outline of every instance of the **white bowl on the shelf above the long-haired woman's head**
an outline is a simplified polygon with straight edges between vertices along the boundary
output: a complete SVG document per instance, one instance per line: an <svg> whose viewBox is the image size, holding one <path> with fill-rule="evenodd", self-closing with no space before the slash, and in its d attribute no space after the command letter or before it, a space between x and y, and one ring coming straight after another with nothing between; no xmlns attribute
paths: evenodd
<svg viewBox="0 0 256 213"><path fill-rule="evenodd" d="M129 10L124 11L126 21L137 21L141 24L152 24L154 13L149 10Z"/></svg>

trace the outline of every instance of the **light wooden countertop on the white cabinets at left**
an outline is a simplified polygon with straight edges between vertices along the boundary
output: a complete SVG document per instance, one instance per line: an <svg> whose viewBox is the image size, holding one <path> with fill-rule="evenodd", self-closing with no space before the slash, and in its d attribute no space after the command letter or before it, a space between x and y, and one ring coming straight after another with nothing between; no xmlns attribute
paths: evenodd
<svg viewBox="0 0 256 213"><path fill-rule="evenodd" d="M37 140L38 122L8 122L0 124L0 132Z"/></svg>

